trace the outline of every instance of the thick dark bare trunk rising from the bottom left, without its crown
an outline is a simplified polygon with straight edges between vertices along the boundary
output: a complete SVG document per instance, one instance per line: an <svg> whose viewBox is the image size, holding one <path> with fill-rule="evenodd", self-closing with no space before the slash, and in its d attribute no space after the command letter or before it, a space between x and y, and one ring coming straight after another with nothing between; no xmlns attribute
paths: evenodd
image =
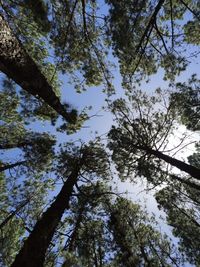
<svg viewBox="0 0 200 267"><path fill-rule="evenodd" d="M69 200L73 186L77 182L80 166L68 177L53 204L44 212L24 246L15 258L11 267L42 267L46 250L51 242L65 209L69 208Z"/></svg>

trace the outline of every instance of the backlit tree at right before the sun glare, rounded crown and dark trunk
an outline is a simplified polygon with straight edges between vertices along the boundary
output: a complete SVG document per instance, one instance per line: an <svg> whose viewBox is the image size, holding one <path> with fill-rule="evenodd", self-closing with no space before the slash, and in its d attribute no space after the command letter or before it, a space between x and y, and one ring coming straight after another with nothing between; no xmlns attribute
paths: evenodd
<svg viewBox="0 0 200 267"><path fill-rule="evenodd" d="M130 102L119 99L111 105L118 123L112 126L108 134L113 160L119 172L122 175L124 172L125 176L136 171L137 175L143 175L151 181L154 172L155 177L160 176L159 170L163 169L162 162L165 162L199 180L200 170L197 167L164 153L168 151L168 138L174 133L176 117L171 106L166 107L166 111L159 109L162 104L162 95L159 94L148 97L138 91L130 96ZM184 135L180 145L183 141ZM164 177L162 173L161 176ZM159 178L156 181L159 182Z"/></svg>

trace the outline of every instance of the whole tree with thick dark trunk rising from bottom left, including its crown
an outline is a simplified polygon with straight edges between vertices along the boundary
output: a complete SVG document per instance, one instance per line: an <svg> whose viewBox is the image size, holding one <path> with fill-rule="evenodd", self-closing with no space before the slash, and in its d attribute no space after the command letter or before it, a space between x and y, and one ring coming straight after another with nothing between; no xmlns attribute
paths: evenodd
<svg viewBox="0 0 200 267"><path fill-rule="evenodd" d="M72 152L72 154L70 155L67 152ZM102 175L105 175L105 167L107 166L106 154L98 145L91 144L91 146L83 147L80 151L78 151L77 147L66 148L65 152L61 151L61 156L59 164L64 164L58 166L62 167L62 173L64 168L64 176L67 180L64 182L55 201L36 223L30 236L16 256L14 263L11 265L13 267L30 266L30 264L38 267L43 266L46 250L65 209L69 208L73 187L78 182L81 170L84 174L88 173L89 175L93 173L101 175L103 170ZM99 157L101 160L99 160L99 165L97 165L96 161Z"/></svg>

